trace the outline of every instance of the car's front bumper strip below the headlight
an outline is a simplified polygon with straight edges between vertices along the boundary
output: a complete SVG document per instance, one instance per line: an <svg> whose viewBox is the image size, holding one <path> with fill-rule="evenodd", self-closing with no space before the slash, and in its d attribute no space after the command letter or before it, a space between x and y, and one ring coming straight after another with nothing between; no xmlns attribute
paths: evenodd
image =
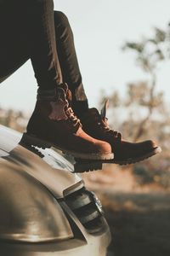
<svg viewBox="0 0 170 256"><path fill-rule="evenodd" d="M105 256L106 255L106 237L92 237L88 241L81 239L71 239L70 241L61 241L59 243L44 244L11 244L0 243L1 253L5 256Z"/></svg>

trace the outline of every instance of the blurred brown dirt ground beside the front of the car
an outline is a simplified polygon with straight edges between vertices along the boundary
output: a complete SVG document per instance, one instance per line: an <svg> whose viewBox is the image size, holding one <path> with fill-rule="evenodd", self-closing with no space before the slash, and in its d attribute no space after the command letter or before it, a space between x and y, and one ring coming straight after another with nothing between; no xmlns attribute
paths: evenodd
<svg viewBox="0 0 170 256"><path fill-rule="evenodd" d="M108 256L170 256L168 190L140 187L131 171L106 170L84 178L105 209L112 235Z"/></svg>

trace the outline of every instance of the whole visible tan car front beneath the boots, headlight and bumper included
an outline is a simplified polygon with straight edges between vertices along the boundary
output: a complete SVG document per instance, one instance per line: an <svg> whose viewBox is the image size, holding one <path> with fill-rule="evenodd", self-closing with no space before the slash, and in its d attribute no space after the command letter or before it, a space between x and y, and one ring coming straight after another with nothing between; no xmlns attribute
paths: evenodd
<svg viewBox="0 0 170 256"><path fill-rule="evenodd" d="M83 224L86 210L79 216L66 201L67 197L75 200L72 206L77 207L82 191L88 199L82 177L73 173L71 162L62 154L47 148L28 150L20 146L21 137L0 125L1 254L104 256L111 233L94 200L89 195L89 209L98 212L102 222L93 233ZM96 219L92 223L95 228Z"/></svg>

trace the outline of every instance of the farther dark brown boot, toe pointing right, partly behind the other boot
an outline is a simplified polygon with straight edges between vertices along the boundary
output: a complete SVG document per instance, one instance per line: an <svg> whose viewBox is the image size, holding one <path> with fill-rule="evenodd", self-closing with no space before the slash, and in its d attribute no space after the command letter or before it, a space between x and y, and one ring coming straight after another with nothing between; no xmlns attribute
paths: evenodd
<svg viewBox="0 0 170 256"><path fill-rule="evenodd" d="M88 112L83 115L81 122L83 130L90 136L111 144L114 153L114 160L111 160L111 162L126 165L147 159L161 152L161 148L151 140L141 143L129 143L122 140L121 133L113 131L109 127L105 114L106 104L101 114L96 108L89 108Z"/></svg>

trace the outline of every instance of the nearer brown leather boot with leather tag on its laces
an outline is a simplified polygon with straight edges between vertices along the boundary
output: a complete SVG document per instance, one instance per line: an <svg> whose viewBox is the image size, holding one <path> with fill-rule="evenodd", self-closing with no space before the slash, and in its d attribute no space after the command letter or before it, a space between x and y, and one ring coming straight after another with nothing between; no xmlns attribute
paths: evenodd
<svg viewBox="0 0 170 256"><path fill-rule="evenodd" d="M38 92L37 104L27 125L25 142L37 147L54 146L74 157L89 160L109 160L113 158L111 145L88 136L82 131L67 101L68 87L62 84L54 96Z"/></svg>

